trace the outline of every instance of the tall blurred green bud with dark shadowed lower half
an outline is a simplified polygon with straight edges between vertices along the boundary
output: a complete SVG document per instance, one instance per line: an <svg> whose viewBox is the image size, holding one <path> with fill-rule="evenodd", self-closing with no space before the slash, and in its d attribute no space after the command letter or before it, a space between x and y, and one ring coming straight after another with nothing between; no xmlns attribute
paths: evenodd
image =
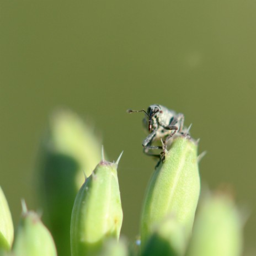
<svg viewBox="0 0 256 256"><path fill-rule="evenodd" d="M56 111L42 143L40 188L43 219L54 236L58 254L70 255L70 219L76 194L100 161L94 132L71 111Z"/></svg>

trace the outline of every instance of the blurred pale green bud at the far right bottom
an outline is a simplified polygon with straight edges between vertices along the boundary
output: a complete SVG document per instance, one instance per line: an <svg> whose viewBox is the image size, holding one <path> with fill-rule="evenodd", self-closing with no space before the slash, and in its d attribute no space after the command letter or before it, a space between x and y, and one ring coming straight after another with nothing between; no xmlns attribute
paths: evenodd
<svg viewBox="0 0 256 256"><path fill-rule="evenodd" d="M196 216L187 256L242 255L242 221L232 198L210 195Z"/></svg>

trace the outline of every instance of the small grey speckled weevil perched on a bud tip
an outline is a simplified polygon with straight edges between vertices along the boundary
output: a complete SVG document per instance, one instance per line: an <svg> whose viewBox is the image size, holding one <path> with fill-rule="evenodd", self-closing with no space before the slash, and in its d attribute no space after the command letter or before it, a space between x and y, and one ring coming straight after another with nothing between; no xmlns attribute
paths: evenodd
<svg viewBox="0 0 256 256"><path fill-rule="evenodd" d="M184 115L176 114L162 105L153 104L146 110L127 110L128 113L144 112L143 125L149 134L142 142L143 152L150 156L157 156L164 162L167 153L167 143L174 134L183 134ZM154 141L161 140L162 146L152 146ZM159 154L152 154L150 150L162 150Z"/></svg>

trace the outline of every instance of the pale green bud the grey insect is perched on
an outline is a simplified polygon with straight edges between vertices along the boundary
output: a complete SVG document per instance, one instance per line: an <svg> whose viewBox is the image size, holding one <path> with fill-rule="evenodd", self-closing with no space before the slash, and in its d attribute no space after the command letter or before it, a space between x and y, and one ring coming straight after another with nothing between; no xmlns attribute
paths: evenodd
<svg viewBox="0 0 256 256"><path fill-rule="evenodd" d="M173 140L166 161L154 171L141 217L142 248L164 218L174 215L190 236L200 193L198 145L188 136Z"/></svg>

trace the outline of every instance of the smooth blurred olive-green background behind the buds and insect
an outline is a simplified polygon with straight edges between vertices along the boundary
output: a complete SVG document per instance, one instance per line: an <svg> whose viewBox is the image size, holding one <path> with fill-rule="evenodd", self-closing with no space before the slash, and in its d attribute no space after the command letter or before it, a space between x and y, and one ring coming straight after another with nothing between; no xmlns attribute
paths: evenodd
<svg viewBox="0 0 256 256"><path fill-rule="evenodd" d="M0 0L0 184L15 225L20 198L37 209L35 165L49 114L59 106L93 122L118 158L124 223L138 233L155 162L142 153L143 114L184 113L201 138L201 180L228 183L255 251L256 2Z"/></svg>

